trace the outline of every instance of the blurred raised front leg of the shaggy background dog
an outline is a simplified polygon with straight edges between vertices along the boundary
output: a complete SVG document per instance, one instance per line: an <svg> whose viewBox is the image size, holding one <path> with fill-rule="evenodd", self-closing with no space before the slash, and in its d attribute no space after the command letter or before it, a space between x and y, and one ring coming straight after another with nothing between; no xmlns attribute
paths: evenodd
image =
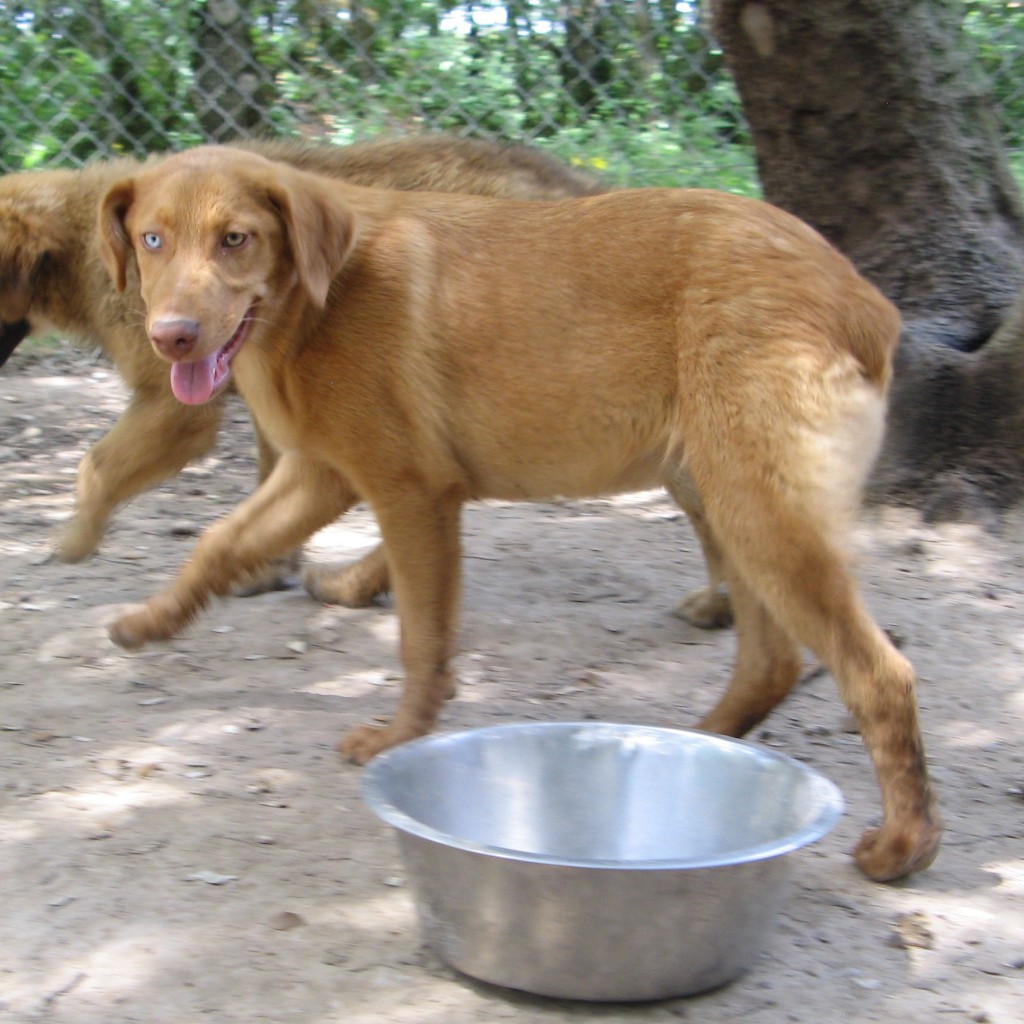
<svg viewBox="0 0 1024 1024"><path fill-rule="evenodd" d="M83 457L76 510L56 557L77 562L99 546L118 506L206 455L216 441L223 403L182 406L170 392L136 389L117 423Z"/></svg>

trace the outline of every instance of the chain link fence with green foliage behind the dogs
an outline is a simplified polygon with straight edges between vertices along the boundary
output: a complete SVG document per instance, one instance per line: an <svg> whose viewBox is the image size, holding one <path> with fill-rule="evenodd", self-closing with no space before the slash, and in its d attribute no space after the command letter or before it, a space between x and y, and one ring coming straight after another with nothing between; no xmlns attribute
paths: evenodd
<svg viewBox="0 0 1024 1024"><path fill-rule="evenodd" d="M1024 169L1024 3L965 12ZM429 128L757 189L710 0L0 0L0 100L3 171Z"/></svg>

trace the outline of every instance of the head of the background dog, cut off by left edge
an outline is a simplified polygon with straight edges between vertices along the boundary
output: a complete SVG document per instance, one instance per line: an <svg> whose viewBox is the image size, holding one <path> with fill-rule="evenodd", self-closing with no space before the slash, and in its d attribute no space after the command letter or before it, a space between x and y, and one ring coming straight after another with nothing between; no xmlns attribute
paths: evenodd
<svg viewBox="0 0 1024 1024"><path fill-rule="evenodd" d="M61 217L48 172L0 179L0 367L46 318L40 286L61 244Z"/></svg>

